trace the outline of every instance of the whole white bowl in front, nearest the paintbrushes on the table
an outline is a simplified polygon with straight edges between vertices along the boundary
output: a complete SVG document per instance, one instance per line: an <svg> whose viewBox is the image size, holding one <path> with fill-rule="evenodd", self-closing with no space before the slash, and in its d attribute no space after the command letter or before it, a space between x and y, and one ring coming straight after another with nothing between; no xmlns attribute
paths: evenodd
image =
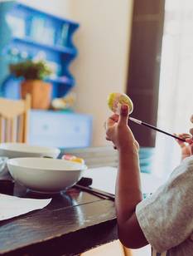
<svg viewBox="0 0 193 256"><path fill-rule="evenodd" d="M7 160L12 178L30 190L55 193L75 185L86 165L48 158L15 158Z"/></svg>

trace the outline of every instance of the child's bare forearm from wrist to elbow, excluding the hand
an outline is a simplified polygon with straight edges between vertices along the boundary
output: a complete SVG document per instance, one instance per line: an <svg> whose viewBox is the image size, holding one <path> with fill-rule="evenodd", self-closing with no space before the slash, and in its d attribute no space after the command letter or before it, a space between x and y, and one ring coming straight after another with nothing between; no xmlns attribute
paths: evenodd
<svg viewBox="0 0 193 256"><path fill-rule="evenodd" d="M148 244L135 214L136 205L142 201L138 153L118 150L119 165L115 205L118 216L118 236L128 248L138 249Z"/></svg>

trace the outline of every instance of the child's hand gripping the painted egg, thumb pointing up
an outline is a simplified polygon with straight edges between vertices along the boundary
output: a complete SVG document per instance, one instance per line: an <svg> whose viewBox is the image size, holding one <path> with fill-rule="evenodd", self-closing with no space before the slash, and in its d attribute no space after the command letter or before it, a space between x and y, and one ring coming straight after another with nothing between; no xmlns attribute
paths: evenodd
<svg viewBox="0 0 193 256"><path fill-rule="evenodd" d="M106 122L106 140L113 142L118 150L138 151L139 145L128 127L128 106L122 105L120 116L113 114Z"/></svg>

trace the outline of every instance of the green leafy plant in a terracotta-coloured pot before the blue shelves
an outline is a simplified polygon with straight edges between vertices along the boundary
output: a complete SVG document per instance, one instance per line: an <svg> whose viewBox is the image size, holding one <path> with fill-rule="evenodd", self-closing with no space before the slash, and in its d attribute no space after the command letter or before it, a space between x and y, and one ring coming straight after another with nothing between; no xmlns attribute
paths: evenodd
<svg viewBox="0 0 193 256"><path fill-rule="evenodd" d="M52 71L46 62L26 60L11 64L9 67L12 75L24 78L21 84L21 96L25 98L27 93L31 94L31 108L48 109L51 103L52 85L44 79L50 76Z"/></svg>

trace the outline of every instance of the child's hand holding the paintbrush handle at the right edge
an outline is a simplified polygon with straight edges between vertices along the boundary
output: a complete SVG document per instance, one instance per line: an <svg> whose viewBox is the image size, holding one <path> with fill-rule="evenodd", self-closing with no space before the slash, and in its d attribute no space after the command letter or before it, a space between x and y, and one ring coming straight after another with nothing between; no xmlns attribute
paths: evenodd
<svg viewBox="0 0 193 256"><path fill-rule="evenodd" d="M191 122L193 123L193 116L191 116ZM185 139L186 142L183 142L181 140L176 140L177 143L181 146L181 159L185 159L188 156L193 155L193 128L190 130L191 134L182 133L180 135L177 135L181 139Z"/></svg>

